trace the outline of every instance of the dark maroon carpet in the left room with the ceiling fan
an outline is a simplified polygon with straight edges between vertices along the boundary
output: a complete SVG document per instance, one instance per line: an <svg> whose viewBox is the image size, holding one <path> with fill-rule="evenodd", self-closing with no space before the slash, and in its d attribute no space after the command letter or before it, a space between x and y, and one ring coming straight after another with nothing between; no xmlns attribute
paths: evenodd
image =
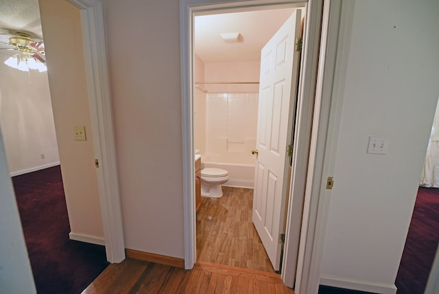
<svg viewBox="0 0 439 294"><path fill-rule="evenodd" d="M108 266L105 247L69 239L60 166L12 177L40 294L81 293Z"/></svg>

